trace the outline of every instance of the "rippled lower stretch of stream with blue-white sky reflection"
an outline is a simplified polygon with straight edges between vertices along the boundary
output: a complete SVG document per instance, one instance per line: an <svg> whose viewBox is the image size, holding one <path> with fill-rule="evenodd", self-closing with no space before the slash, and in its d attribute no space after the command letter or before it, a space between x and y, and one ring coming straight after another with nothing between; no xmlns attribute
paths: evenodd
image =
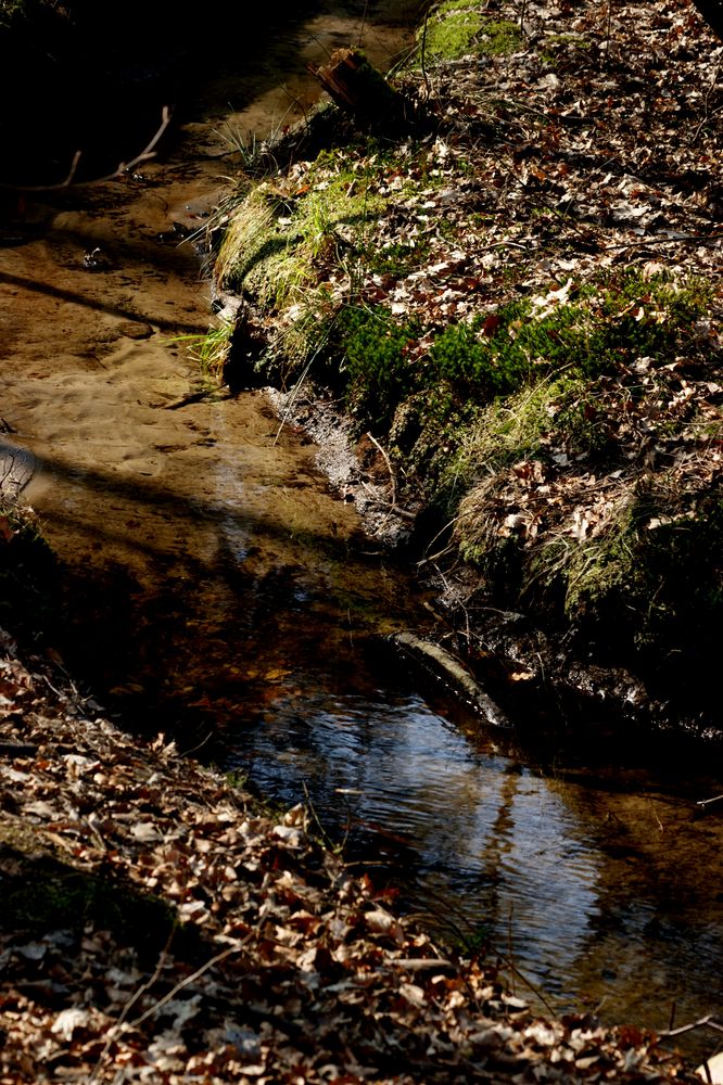
<svg viewBox="0 0 723 1085"><path fill-rule="evenodd" d="M232 741L265 794L306 796L377 880L394 868L411 910L446 939L486 937L559 1010L660 1030L673 1001L678 1021L720 1005L722 897L696 864L711 845L719 861L723 835L681 797L533 771L398 689L287 687Z"/></svg>

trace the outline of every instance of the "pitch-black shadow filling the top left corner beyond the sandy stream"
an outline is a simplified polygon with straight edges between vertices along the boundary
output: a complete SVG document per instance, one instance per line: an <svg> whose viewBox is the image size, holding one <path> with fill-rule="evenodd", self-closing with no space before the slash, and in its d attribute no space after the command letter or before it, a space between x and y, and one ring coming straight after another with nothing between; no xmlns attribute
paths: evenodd
<svg viewBox="0 0 723 1085"><path fill-rule="evenodd" d="M282 42L321 5L279 0L250 11L219 0L213 12L194 12L170 0L127 0L115 13L105 4L68 7L75 18L61 12L0 36L0 91L14 104L0 123L10 152L4 184L60 183L78 150L76 179L103 176L149 142L162 106L176 106L180 120L193 115L204 84L219 73L253 69L261 95L283 81L276 60Z"/></svg>

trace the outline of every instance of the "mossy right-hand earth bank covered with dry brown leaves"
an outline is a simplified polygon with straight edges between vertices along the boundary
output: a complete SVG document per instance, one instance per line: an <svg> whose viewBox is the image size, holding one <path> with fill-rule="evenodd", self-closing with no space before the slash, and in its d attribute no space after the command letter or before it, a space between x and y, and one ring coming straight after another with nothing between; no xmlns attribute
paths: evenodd
<svg viewBox="0 0 723 1085"><path fill-rule="evenodd" d="M583 730L720 740L720 54L686 3L441 4L426 120L322 108L212 234L205 362L351 418L432 636Z"/></svg>

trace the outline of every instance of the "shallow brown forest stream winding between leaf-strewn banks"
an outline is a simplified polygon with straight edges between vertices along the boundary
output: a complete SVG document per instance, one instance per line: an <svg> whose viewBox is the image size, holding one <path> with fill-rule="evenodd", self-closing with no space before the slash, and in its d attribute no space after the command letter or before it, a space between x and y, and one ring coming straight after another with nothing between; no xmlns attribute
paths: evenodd
<svg viewBox="0 0 723 1085"><path fill-rule="evenodd" d="M556 1010L693 1021L723 998L723 819L695 817L713 781L543 769L513 726L424 695L385 641L429 624L408 573L265 393L208 392L189 354L211 294L183 239L239 146L308 110L307 63L362 38L383 65L408 41L416 4L343 8L270 28L241 75L194 85L136 174L28 193L4 228L0 458L5 477L22 464L64 569L74 647L58 650L124 720L308 802L406 909L511 960L520 995L529 981Z"/></svg>

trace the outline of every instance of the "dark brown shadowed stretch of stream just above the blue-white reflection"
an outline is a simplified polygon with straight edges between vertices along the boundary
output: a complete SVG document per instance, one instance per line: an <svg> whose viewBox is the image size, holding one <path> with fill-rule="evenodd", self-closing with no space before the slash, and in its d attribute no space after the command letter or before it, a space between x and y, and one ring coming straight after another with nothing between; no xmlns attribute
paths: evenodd
<svg viewBox="0 0 723 1085"><path fill-rule="evenodd" d="M402 609L404 574L384 595L378 557L333 533L300 533L272 505L256 514L59 460L38 469L68 494L43 512L46 534L73 538L75 554L46 579L46 642L127 726L178 733L181 749L261 704L269 674L353 685L366 637ZM109 511L97 518L101 501ZM199 532L213 539L208 552Z"/></svg>

